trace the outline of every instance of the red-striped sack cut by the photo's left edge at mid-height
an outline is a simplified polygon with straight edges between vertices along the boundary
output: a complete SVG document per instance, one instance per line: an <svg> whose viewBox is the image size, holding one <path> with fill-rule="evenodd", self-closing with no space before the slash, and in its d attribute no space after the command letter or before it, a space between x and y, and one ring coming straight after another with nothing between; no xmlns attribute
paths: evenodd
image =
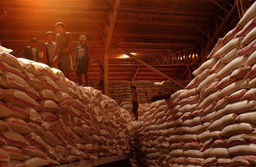
<svg viewBox="0 0 256 167"><path fill-rule="evenodd" d="M1 76L3 77L3 81L5 82L5 85L3 85L4 88L15 88L19 90L24 90L28 87L28 83L23 78L12 72L3 72Z"/></svg>

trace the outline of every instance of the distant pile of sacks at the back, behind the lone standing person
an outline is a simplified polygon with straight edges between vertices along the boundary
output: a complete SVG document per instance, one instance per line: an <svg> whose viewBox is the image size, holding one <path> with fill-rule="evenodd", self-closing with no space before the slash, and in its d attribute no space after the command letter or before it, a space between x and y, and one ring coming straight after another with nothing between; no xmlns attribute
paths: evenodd
<svg viewBox="0 0 256 167"><path fill-rule="evenodd" d="M186 81L184 83L186 83ZM109 96L113 98L118 104L121 104L125 101L131 102L131 86L136 86L137 88L139 103L151 103L152 101L150 100L154 96L172 94L180 89L179 86L173 84L171 81L163 81L157 83L151 81L118 81L110 82Z"/></svg>

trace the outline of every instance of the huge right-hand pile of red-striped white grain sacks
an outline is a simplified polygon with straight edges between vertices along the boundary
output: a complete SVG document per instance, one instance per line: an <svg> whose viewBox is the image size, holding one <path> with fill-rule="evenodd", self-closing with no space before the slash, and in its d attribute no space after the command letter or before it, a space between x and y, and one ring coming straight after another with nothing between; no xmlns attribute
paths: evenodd
<svg viewBox="0 0 256 167"><path fill-rule="evenodd" d="M256 166L255 15L256 2L219 39L186 90L144 113L137 130L143 165Z"/></svg>

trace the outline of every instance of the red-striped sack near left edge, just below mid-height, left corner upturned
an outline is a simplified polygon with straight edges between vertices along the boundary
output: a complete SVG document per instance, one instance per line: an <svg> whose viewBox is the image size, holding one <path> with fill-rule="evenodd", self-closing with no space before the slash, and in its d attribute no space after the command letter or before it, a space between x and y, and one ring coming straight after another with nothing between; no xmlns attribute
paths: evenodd
<svg viewBox="0 0 256 167"><path fill-rule="evenodd" d="M3 101L11 102L12 104L23 108L33 108L36 111L42 110L42 107L35 99L29 97L26 93L18 89L11 89L11 94L5 96Z"/></svg>

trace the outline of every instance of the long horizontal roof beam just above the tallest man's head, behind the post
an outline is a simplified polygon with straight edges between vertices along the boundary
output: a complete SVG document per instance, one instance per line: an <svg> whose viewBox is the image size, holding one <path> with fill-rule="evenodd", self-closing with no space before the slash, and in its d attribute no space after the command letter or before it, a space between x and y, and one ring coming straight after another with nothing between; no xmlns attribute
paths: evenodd
<svg viewBox="0 0 256 167"><path fill-rule="evenodd" d="M77 22L105 22L103 18L85 18L85 17L67 17L67 16L42 16L42 15L16 15L9 14L6 19L11 20L55 20L55 21L77 21ZM174 22L174 21L151 21L151 20L133 20L133 19L116 19L115 23L130 23L130 24L158 24L158 25L176 25L176 26L203 26L205 23L198 22Z"/></svg>

